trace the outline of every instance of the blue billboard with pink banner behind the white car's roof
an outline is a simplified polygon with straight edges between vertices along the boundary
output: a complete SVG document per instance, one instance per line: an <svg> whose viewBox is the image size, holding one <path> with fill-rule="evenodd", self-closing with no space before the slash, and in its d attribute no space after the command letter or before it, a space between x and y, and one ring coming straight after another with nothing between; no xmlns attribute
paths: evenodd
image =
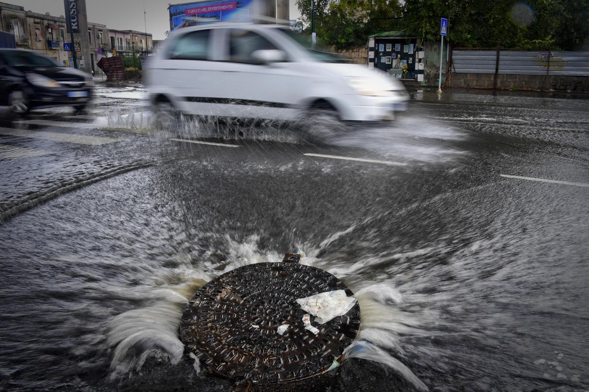
<svg viewBox="0 0 589 392"><path fill-rule="evenodd" d="M170 31L203 22L251 21L254 0L220 0L170 4Z"/></svg>

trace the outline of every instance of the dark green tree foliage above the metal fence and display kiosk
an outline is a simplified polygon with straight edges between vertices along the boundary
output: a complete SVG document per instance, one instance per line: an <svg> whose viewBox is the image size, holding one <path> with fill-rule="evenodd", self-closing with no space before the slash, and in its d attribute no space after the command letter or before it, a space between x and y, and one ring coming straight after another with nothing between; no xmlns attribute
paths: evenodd
<svg viewBox="0 0 589 392"><path fill-rule="evenodd" d="M299 28L310 34L311 0L297 0ZM317 37L336 48L366 43L368 35L404 29L439 39L440 18L455 47L589 50L589 0L315 0Z"/></svg>

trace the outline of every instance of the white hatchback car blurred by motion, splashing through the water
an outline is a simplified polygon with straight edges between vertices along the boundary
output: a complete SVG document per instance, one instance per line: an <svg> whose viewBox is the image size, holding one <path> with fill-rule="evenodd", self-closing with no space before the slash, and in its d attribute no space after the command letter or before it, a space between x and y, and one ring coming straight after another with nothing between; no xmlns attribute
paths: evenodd
<svg viewBox="0 0 589 392"><path fill-rule="evenodd" d="M305 48L291 29L219 22L186 27L145 64L157 111L297 120L318 110L345 121L391 120L405 87L380 70Z"/></svg>

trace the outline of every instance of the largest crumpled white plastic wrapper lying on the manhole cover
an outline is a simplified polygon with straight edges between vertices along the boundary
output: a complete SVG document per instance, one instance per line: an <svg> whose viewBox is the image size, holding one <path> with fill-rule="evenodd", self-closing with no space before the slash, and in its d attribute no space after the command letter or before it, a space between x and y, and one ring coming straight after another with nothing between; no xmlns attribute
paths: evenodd
<svg viewBox="0 0 589 392"><path fill-rule="evenodd" d="M356 297L348 297L343 290L320 292L311 297L299 298L296 302L315 316L315 321L319 324L348 313L356 304Z"/></svg>

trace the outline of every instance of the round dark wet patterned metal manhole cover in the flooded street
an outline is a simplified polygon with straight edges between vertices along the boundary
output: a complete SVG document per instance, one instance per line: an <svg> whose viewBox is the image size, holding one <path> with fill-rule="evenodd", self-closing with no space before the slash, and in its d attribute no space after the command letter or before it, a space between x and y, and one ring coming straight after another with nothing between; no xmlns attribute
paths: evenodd
<svg viewBox="0 0 589 392"><path fill-rule="evenodd" d="M190 299L180 323L188 351L211 373L253 383L299 380L326 371L358 335L358 302L345 315L305 329L297 298L345 290L329 272L296 262L259 263L223 274ZM311 318L312 321L314 317ZM290 326L283 335L279 326Z"/></svg>

